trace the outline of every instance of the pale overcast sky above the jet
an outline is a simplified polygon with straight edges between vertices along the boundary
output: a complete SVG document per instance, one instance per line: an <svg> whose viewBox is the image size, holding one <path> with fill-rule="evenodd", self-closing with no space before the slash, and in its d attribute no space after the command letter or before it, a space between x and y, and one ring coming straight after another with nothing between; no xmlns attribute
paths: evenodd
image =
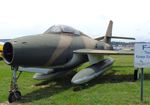
<svg viewBox="0 0 150 105"><path fill-rule="evenodd" d="M91 37L113 35L150 41L150 0L0 0L0 38L40 34L54 24Z"/></svg>

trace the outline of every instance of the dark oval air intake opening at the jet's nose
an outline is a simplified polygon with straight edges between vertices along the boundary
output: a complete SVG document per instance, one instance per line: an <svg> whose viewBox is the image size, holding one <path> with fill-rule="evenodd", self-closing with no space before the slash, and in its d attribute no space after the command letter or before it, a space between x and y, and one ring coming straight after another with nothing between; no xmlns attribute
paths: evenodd
<svg viewBox="0 0 150 105"><path fill-rule="evenodd" d="M3 58L7 64L13 62L13 45L10 42L6 42L3 46Z"/></svg>

